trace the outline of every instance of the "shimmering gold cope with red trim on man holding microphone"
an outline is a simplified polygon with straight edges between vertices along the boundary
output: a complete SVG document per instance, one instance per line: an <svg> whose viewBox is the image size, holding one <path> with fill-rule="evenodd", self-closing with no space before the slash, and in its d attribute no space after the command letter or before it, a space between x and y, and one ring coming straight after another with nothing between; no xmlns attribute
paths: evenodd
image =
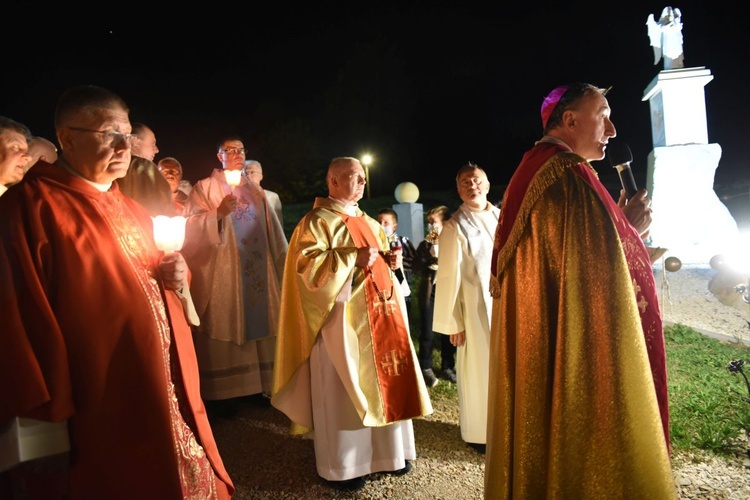
<svg viewBox="0 0 750 500"><path fill-rule="evenodd" d="M648 252L564 145L513 175L492 274L485 498L676 498Z"/></svg>

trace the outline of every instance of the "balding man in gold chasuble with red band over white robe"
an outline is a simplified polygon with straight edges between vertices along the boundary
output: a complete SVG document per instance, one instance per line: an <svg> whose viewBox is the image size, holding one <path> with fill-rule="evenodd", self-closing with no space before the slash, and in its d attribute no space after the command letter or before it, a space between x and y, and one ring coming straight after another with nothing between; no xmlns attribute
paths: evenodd
<svg viewBox="0 0 750 500"><path fill-rule="evenodd" d="M409 334L385 233L362 212L358 160L334 159L289 243L272 404L312 432L318 474L361 480L410 470L412 418L432 406Z"/></svg>

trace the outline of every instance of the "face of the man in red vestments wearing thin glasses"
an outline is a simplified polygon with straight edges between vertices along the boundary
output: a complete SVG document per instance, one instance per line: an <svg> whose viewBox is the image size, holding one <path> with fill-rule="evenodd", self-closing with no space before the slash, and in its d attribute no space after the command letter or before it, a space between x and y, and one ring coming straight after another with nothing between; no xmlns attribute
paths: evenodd
<svg viewBox="0 0 750 500"><path fill-rule="evenodd" d="M58 132L63 159L81 177L110 184L125 177L130 167L128 113L120 108L99 108L81 114Z"/></svg>

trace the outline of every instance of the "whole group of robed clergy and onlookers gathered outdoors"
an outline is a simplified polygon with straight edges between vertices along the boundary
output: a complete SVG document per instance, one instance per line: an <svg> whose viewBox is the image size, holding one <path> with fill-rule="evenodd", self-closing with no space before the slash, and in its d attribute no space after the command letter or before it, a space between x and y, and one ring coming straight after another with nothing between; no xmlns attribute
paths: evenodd
<svg viewBox="0 0 750 500"><path fill-rule="evenodd" d="M416 249L395 210L362 211L354 157L287 240L239 136L191 184L108 89L60 97L59 149L0 116L0 437L64 433L31 460L0 449L0 497L230 498L208 416L242 400L309 437L332 488L408 474L439 349L486 498L674 498L650 199L614 200L590 163L616 135L606 94L553 89L501 203L461 166L462 204L431 207ZM184 218L178 248L159 215Z"/></svg>

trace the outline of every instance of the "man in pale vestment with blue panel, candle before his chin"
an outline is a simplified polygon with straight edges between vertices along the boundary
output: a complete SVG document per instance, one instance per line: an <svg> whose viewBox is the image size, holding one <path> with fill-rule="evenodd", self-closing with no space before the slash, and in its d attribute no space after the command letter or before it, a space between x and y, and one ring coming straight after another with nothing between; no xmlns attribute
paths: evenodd
<svg viewBox="0 0 750 500"><path fill-rule="evenodd" d="M263 189L240 175L245 155L239 137L221 140L222 168L196 182L185 205L201 393L216 415L231 415L246 396L268 404L287 251Z"/></svg>

